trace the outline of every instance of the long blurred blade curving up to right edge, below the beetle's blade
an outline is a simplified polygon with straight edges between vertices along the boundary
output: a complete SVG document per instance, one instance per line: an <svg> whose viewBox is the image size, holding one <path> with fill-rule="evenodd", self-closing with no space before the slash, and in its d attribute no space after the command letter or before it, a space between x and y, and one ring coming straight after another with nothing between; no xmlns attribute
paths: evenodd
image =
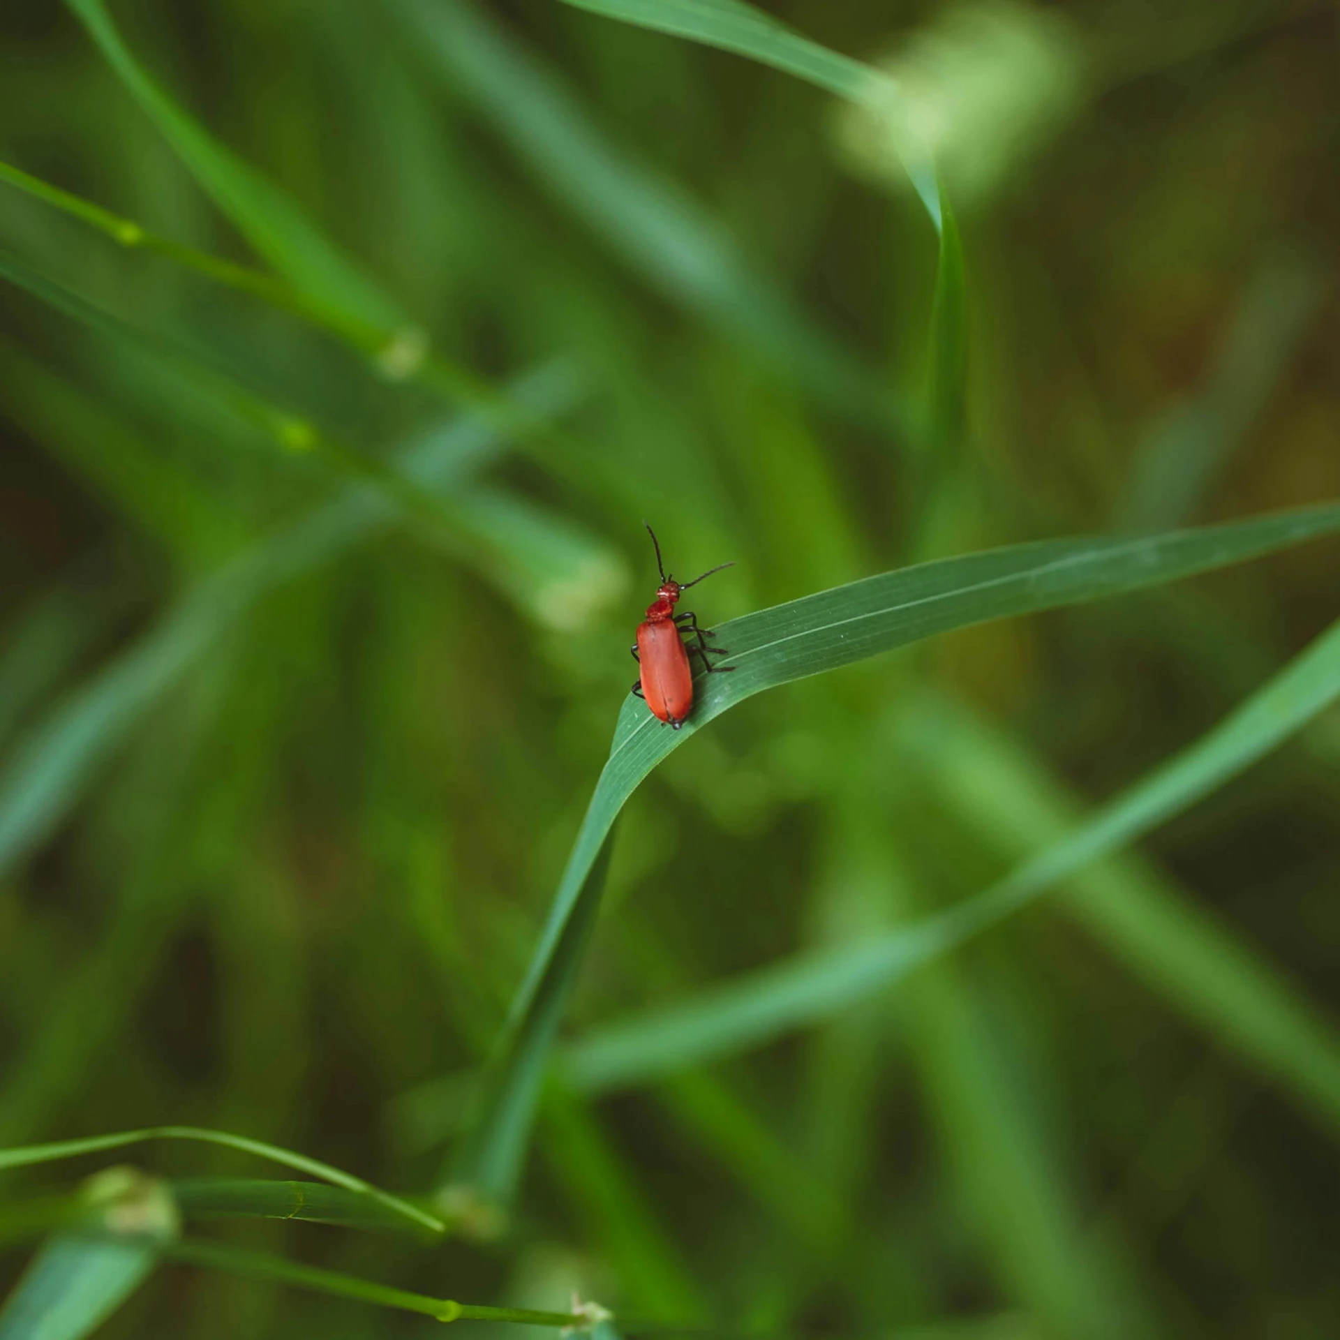
<svg viewBox="0 0 1340 1340"><path fill-rule="evenodd" d="M641 1084L760 1047L846 1009L1187 809L1306 725L1337 695L1340 624L1195 744L976 898L907 930L776 963L682 1005L599 1029L567 1051L565 1079L587 1089Z"/></svg>

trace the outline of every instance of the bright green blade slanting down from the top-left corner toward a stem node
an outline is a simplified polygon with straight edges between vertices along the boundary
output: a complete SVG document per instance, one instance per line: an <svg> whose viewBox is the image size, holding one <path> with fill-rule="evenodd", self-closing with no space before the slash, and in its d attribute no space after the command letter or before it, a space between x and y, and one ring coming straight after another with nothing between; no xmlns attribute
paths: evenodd
<svg viewBox="0 0 1340 1340"><path fill-rule="evenodd" d="M66 3L130 95L259 255L303 292L364 322L406 324L399 306L340 255L292 200L220 145L149 76L122 42L102 0Z"/></svg>

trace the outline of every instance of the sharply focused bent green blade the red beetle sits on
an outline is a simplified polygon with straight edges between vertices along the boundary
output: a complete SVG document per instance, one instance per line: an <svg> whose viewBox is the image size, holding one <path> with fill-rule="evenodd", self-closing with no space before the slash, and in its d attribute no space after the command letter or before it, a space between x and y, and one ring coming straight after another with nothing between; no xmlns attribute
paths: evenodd
<svg viewBox="0 0 1340 1340"><path fill-rule="evenodd" d="M682 730L658 729L662 724L631 694L623 704L610 758L513 1000L490 1096L457 1175L490 1191L516 1186L524 1156L516 1132L529 1127L539 1087L536 1047L547 1045L557 1028L567 994L560 980L571 984L575 977L560 946L572 945L570 923L594 919L600 891L588 876L624 801L695 730L764 689L937 632L1158 586L1337 529L1340 505L1329 504L1164 536L1022 544L884 572L722 624L721 645L730 649L736 670L698 679L693 717ZM884 970L883 957L875 955L874 970ZM823 974L817 988L807 988L819 998L832 989ZM784 1008L788 990L773 993ZM519 1103L528 1106L525 1112L516 1111Z"/></svg>

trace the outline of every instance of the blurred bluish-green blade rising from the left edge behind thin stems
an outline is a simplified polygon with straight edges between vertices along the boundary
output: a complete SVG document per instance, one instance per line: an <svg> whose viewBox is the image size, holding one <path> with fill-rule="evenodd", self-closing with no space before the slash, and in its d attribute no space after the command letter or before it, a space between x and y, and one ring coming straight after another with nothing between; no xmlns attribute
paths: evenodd
<svg viewBox="0 0 1340 1340"><path fill-rule="evenodd" d="M564 368L521 381L519 403L559 413L576 395ZM446 490L498 450L496 433L474 419L414 437L395 465L418 488ZM20 741L0 772L0 872L29 852L62 819L80 787L181 675L265 592L330 561L399 520L394 504L362 486L259 541L194 591ZM486 517L480 525L488 524ZM503 544L504 537L496 536ZM532 537L533 539L533 537ZM462 557L473 561L469 549ZM563 580L556 563L545 582ZM552 590L551 587L547 587Z"/></svg>

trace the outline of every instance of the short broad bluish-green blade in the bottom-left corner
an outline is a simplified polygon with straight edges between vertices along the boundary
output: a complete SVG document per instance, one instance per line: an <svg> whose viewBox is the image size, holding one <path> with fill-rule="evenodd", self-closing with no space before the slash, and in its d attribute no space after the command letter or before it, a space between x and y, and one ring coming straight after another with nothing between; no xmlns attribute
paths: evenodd
<svg viewBox="0 0 1340 1340"><path fill-rule="evenodd" d="M80 1340L143 1284L157 1258L141 1242L52 1238L0 1309L0 1340Z"/></svg>

